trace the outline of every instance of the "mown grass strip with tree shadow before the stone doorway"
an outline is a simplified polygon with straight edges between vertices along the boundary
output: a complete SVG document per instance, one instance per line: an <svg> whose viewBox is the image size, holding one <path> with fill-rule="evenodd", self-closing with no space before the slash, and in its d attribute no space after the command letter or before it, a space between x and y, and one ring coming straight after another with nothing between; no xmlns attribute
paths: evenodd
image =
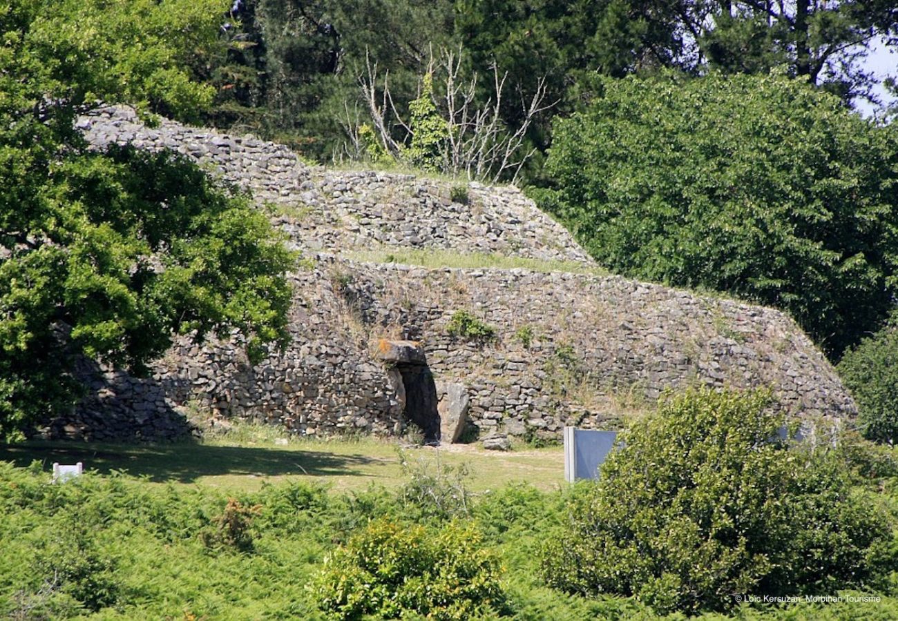
<svg viewBox="0 0 898 621"><path fill-rule="evenodd" d="M291 439L281 446L274 439L269 428L248 427L233 437L176 444L24 442L0 445L0 461L23 467L38 460L44 470L52 468L54 461L81 461L84 468L101 474L123 470L154 483L199 484L229 492L253 492L263 482L280 481L323 483L344 491L372 483L388 488L404 483L402 452L410 464L422 468L466 465L471 475L468 485L475 492L515 481L549 491L564 482L560 447L499 452L472 444L429 448L374 438Z"/></svg>

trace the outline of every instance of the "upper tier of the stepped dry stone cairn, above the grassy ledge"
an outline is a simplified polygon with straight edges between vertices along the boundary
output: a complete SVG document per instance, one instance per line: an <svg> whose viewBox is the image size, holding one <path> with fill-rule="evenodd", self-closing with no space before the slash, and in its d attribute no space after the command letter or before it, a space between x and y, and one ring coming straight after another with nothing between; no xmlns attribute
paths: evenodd
<svg viewBox="0 0 898 621"><path fill-rule="evenodd" d="M590 263L570 233L517 188L419 179L374 171L328 171L285 146L162 119L145 127L133 109L110 106L76 124L97 148L133 144L188 156L225 182L249 189L302 249L451 249ZM468 204L453 202L463 188Z"/></svg>

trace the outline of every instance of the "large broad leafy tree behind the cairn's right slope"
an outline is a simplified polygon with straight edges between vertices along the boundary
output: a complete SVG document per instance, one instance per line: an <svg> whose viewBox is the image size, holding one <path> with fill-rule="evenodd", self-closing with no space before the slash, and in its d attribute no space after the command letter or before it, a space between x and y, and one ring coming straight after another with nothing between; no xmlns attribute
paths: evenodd
<svg viewBox="0 0 898 621"><path fill-rule="evenodd" d="M776 306L838 356L896 293L898 135L780 75L603 81L537 191L605 267Z"/></svg>

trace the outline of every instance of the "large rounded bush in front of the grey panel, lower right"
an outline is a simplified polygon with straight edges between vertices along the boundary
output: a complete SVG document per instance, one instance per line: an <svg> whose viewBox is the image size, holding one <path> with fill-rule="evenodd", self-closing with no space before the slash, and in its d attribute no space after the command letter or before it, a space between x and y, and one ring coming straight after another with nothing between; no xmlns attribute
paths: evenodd
<svg viewBox="0 0 898 621"><path fill-rule="evenodd" d="M781 440L784 423L762 392L666 398L578 490L550 585L692 613L875 584L895 560L889 521L839 450Z"/></svg>

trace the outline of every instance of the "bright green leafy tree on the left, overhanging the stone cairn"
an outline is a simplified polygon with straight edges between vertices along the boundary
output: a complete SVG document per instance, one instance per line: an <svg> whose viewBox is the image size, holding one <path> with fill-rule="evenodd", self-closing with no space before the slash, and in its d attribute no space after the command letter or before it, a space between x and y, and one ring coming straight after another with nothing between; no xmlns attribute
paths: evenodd
<svg viewBox="0 0 898 621"><path fill-rule="evenodd" d="M172 331L286 338L291 254L246 197L171 154L92 153L98 100L196 118L220 2L0 4L0 437L68 407L86 354L140 372Z"/></svg>

